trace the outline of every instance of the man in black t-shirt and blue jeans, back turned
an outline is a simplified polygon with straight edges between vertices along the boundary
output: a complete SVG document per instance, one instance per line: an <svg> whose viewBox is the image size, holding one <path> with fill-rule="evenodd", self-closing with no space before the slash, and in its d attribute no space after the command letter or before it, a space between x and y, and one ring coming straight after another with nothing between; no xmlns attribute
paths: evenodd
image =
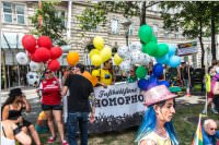
<svg viewBox="0 0 219 145"><path fill-rule="evenodd" d="M90 112L90 121L94 121L94 108L91 109L89 96L93 93L92 83L82 76L84 65L78 63L72 69L62 88L62 96L66 96L68 89L68 119L67 132L70 145L77 145L77 129L79 123L81 145L88 144L88 117Z"/></svg>

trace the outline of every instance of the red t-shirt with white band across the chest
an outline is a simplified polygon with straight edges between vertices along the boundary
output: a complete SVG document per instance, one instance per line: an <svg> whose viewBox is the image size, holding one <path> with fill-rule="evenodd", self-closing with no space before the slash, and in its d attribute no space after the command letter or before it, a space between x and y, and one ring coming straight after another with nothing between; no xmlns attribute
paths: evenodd
<svg viewBox="0 0 219 145"><path fill-rule="evenodd" d="M42 102L44 105L59 105L61 101L60 84L56 77L43 80L39 86L42 89Z"/></svg>

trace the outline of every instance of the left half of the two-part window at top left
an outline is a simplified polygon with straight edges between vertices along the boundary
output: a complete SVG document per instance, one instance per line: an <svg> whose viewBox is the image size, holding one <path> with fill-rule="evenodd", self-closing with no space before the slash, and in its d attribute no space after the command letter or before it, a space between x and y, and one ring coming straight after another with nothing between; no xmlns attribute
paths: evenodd
<svg viewBox="0 0 219 145"><path fill-rule="evenodd" d="M12 23L12 4L3 2L3 21Z"/></svg>

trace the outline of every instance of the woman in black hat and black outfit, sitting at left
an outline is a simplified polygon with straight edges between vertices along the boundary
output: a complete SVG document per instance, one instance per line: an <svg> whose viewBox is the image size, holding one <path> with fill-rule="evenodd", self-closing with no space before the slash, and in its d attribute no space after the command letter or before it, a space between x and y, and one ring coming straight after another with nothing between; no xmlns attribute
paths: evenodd
<svg viewBox="0 0 219 145"><path fill-rule="evenodd" d="M31 134L35 141L36 145L41 145L41 140L38 133L36 132L34 124L28 122L22 117L22 111L31 111L31 105L27 101L26 97L23 95L21 88L12 88L9 93L9 98L2 105L2 120L10 120L15 123L21 130L27 132L31 131Z"/></svg>

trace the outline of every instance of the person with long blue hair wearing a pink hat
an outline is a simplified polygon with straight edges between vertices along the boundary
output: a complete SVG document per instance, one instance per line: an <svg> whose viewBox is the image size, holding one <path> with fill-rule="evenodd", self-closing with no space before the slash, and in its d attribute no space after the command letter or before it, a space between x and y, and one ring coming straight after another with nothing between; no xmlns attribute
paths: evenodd
<svg viewBox="0 0 219 145"><path fill-rule="evenodd" d="M159 85L143 93L148 108L135 142L138 145L177 145L172 118L175 113L174 98L166 86Z"/></svg>

